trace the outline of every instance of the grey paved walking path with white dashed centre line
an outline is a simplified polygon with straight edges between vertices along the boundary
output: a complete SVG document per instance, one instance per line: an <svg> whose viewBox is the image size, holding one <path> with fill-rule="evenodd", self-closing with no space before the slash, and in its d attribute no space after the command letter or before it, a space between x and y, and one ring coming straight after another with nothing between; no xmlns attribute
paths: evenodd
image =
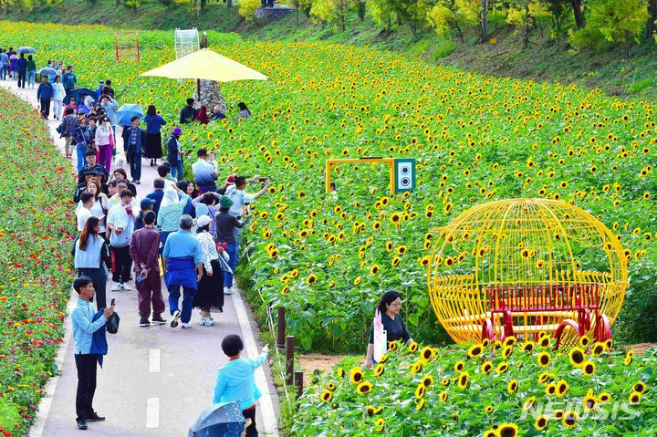
<svg viewBox="0 0 657 437"><path fill-rule="evenodd" d="M17 88L16 81L10 80L0 81L0 86L37 106L36 88ZM63 154L64 140L57 134L58 123L48 120L51 135ZM120 138L120 131L117 137ZM120 150L121 146L118 145ZM75 147L72 149L75 167ZM127 164L124 169L130 175ZM137 185L140 198L152 191L155 177L157 172L149 166L149 161L142 160L141 184ZM221 350L221 340L228 334L239 334L245 339L245 355L255 357L262 347L256 341L255 322L243 299L235 294L225 297L224 313L213 314L214 327L200 326L199 313L194 310L193 329L170 328L169 325L140 328L137 293L132 283L130 286L133 289L129 292L110 292L110 284L107 287L108 303L116 298L116 310L121 317L120 332L108 335L109 354L103 369L99 369L94 398L94 408L100 415L107 416L107 421L89 422L87 433L95 437L186 436L189 425L211 404L216 370L227 361ZM163 282L162 293L166 302L168 293ZM77 294L72 292L68 314L76 299ZM171 318L168 313L163 317ZM66 344L57 356L61 376L48 382L47 396L39 404L37 419L30 431L32 437L80 435L75 421L78 379L69 317L66 326ZM278 400L268 366L259 369L255 376L263 392L257 404L258 429L261 435L277 436Z"/></svg>

